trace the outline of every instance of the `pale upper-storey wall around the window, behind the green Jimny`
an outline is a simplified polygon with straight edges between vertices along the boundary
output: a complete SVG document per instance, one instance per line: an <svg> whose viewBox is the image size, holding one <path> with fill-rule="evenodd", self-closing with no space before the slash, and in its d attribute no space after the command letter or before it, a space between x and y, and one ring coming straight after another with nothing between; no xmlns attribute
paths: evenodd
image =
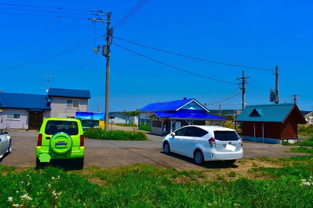
<svg viewBox="0 0 313 208"><path fill-rule="evenodd" d="M66 108L66 99L79 99L80 111L87 112L88 99L51 97L51 117L66 118L66 116L75 116L77 108Z"/></svg>

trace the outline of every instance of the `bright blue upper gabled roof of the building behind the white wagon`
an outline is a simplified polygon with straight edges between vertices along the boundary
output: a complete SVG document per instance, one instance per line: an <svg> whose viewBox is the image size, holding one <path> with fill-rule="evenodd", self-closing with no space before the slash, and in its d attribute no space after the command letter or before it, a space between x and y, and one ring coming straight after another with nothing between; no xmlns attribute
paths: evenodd
<svg viewBox="0 0 313 208"><path fill-rule="evenodd" d="M174 100L174 101L163 102L163 103L151 103L149 105L146 105L142 109L140 109L139 112L141 112L141 111L159 111L159 110L177 110L192 100L195 100L195 99ZM202 107L204 109L206 109L204 106L202 106ZM210 112L208 109L207 109L207 111Z"/></svg>

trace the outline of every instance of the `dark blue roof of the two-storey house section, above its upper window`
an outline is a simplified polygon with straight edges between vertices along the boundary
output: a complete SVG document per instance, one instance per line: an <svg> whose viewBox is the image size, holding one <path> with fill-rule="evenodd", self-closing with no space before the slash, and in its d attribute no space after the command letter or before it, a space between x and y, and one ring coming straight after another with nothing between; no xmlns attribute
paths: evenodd
<svg viewBox="0 0 313 208"><path fill-rule="evenodd" d="M51 97L73 97L73 98L91 98L89 90L80 89L58 89L49 88L48 96Z"/></svg>

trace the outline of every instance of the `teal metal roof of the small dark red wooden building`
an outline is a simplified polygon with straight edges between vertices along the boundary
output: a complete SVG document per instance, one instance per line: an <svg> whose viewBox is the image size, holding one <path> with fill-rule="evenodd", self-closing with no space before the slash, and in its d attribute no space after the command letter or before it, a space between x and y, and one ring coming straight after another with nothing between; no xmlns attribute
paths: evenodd
<svg viewBox="0 0 313 208"><path fill-rule="evenodd" d="M283 122L294 106L298 109L294 103L247 105L235 121Z"/></svg>

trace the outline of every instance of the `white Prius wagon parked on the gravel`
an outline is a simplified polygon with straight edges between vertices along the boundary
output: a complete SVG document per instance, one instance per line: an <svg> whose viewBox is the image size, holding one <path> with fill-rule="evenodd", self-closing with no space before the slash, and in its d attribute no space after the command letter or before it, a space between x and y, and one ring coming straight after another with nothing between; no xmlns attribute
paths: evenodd
<svg viewBox="0 0 313 208"><path fill-rule="evenodd" d="M166 154L175 152L194 158L197 165L212 160L233 164L243 157L242 146L242 139L235 130L218 126L185 126L162 140Z"/></svg>

